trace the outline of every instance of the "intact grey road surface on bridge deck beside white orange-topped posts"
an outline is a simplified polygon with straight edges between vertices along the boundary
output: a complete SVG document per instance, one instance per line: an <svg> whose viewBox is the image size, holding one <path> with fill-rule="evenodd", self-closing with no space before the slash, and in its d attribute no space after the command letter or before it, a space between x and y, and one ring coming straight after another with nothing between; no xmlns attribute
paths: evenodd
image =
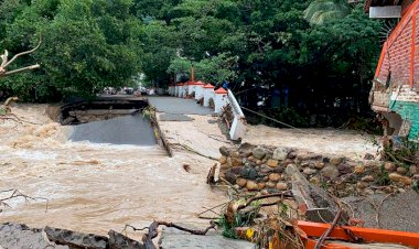
<svg viewBox="0 0 419 249"><path fill-rule="evenodd" d="M214 111L196 104L194 99L149 96L149 102L160 112L172 115L212 115Z"/></svg>

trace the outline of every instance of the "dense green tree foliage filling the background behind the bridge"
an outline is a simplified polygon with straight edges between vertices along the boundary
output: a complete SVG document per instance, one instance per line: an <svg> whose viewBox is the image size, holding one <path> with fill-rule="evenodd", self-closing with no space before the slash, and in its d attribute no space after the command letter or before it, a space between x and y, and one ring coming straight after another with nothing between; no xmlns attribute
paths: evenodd
<svg viewBox="0 0 419 249"><path fill-rule="evenodd" d="M195 67L248 107L366 110L380 23L341 0L2 0L0 48L43 45L0 87L29 100L94 95L143 73L166 86Z"/></svg>

